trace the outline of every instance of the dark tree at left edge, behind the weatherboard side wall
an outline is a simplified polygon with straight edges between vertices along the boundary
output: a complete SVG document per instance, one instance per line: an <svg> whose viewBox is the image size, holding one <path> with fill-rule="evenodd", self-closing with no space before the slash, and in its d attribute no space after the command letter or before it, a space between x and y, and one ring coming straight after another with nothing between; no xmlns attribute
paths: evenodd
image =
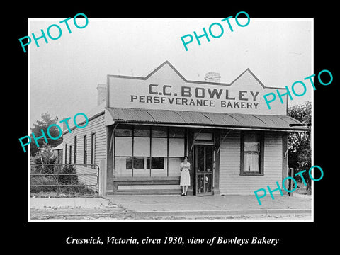
<svg viewBox="0 0 340 255"><path fill-rule="evenodd" d="M57 124L58 118L51 118L50 113L42 113L41 114L42 120L37 120L36 124L33 124L33 128L31 128L31 132L34 133L35 137L42 136L41 130L44 131L44 134L47 139L47 143L51 145L51 147L56 147L57 145L60 145L62 143L62 137L59 137L57 140L51 139L47 134L47 128L52 124ZM51 137L58 137L60 135L60 130L56 126L52 126L49 130ZM32 137L32 141L30 142L30 155L34 156L37 152L39 152L39 149L42 147L43 142L45 142L44 138L41 137L39 140L37 140L39 147L35 144L35 141Z"/></svg>

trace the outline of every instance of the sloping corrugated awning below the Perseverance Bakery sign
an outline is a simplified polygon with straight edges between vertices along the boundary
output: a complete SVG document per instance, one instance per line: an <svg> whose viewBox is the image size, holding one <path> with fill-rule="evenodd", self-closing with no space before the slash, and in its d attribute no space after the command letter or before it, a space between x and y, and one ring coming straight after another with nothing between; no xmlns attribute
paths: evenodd
<svg viewBox="0 0 340 255"><path fill-rule="evenodd" d="M305 126L285 115L254 115L239 113L206 113L194 111L106 108L114 123L176 125L197 128L234 128L278 131L306 131Z"/></svg>

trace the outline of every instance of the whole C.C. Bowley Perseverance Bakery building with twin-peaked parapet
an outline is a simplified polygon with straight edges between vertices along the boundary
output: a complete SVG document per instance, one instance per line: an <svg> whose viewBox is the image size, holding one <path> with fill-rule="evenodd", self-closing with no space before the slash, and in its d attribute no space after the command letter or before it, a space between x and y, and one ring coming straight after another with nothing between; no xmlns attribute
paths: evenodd
<svg viewBox="0 0 340 255"><path fill-rule="evenodd" d="M249 69L229 84L214 72L191 81L166 61L146 77L108 74L97 89L88 125L64 130L62 146L64 162L84 165L78 173L100 166L102 195L180 194L184 155L188 195L254 194L287 176L288 132L307 130L290 126L300 122L287 116L288 96L268 109L263 95L285 89Z"/></svg>

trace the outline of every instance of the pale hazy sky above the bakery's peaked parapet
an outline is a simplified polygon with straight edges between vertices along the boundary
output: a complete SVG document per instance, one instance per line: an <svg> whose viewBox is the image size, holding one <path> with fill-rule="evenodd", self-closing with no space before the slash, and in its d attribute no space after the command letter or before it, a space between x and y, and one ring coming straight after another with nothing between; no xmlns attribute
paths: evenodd
<svg viewBox="0 0 340 255"><path fill-rule="evenodd" d="M312 19L250 18L249 25L241 27L232 18L231 32L223 18L89 17L82 29L72 18L72 33L59 23L65 18L29 18L30 36L40 36L41 29L46 34L52 24L62 28L59 39L47 37L47 44L40 39L40 47L32 40L28 46L30 126L46 112L60 120L87 113L96 107L96 87L106 84L107 74L145 77L166 60L183 77L196 81L204 81L207 72L219 72L220 82L231 83L249 68L265 86L290 88L314 74ZM238 20L246 23L246 18ZM84 18L77 23L84 26ZM210 36L210 42L201 38L201 45L194 39L186 51L181 37L193 31L200 35L212 23L223 26L223 35ZM50 34L57 38L57 28ZM307 93L293 97L289 106L311 101L311 86L305 84Z"/></svg>

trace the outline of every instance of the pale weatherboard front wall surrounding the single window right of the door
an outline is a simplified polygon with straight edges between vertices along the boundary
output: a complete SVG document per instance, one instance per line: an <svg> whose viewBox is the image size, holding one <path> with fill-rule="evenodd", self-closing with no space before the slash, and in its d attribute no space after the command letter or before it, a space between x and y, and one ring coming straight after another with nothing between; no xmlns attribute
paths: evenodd
<svg viewBox="0 0 340 255"><path fill-rule="evenodd" d="M224 195L254 195L259 188L276 187L283 174L283 135L281 132L264 133L264 169L262 176L240 175L241 132L230 132L220 148L220 193ZM222 132L221 137L225 136Z"/></svg>

